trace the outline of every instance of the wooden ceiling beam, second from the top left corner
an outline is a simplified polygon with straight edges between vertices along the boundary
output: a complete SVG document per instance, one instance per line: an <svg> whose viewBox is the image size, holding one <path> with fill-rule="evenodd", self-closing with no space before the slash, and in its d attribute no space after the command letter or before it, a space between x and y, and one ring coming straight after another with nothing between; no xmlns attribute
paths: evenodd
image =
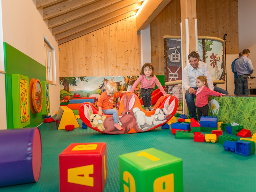
<svg viewBox="0 0 256 192"><path fill-rule="evenodd" d="M71 10L89 5L100 0L68 0L61 3L46 7L43 9L43 19L50 19Z"/></svg>

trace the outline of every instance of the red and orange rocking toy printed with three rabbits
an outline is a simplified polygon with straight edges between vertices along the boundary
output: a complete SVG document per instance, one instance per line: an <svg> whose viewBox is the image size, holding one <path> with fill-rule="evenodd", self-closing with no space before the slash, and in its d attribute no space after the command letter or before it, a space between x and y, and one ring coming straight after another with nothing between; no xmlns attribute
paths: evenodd
<svg viewBox="0 0 256 192"><path fill-rule="evenodd" d="M81 120L91 129L107 134L126 134L150 131L165 124L176 113L178 100L174 96L160 97L153 106L156 110L145 111L134 93L125 93L118 103L120 125L119 131L114 127L112 115L98 115L98 108L92 103L84 102L79 107Z"/></svg>

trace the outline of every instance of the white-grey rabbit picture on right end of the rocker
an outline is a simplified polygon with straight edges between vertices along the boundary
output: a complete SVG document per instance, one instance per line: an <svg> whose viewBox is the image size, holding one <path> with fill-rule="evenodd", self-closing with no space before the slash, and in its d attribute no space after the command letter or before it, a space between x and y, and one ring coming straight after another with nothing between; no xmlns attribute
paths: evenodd
<svg viewBox="0 0 256 192"><path fill-rule="evenodd" d="M138 128L147 131L156 125L160 125L166 121L166 117L169 116L175 108L175 100L169 105L170 97L166 99L163 109L156 109L155 114L146 116L139 108L134 108L133 112L136 117L136 123Z"/></svg>

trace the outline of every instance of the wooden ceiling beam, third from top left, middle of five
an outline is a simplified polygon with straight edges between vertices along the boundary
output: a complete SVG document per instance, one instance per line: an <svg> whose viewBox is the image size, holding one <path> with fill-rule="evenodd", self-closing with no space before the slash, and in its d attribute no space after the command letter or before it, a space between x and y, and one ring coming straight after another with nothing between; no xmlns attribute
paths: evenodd
<svg viewBox="0 0 256 192"><path fill-rule="evenodd" d="M133 3L138 3L141 2L142 0L102 0L99 2L95 2L93 4L90 4L88 6L84 6L81 7L80 9L76 9L73 10L69 13L65 13L63 15L60 15L58 17L54 17L52 19L48 20L48 27L49 28L53 28L53 27L57 27L59 25L62 25L64 23L67 23L71 20L80 18L80 17L84 17L88 14L94 13L96 11L99 11L101 9L114 9L114 7L121 7L123 5L123 7L127 6L127 5L131 5Z"/></svg>

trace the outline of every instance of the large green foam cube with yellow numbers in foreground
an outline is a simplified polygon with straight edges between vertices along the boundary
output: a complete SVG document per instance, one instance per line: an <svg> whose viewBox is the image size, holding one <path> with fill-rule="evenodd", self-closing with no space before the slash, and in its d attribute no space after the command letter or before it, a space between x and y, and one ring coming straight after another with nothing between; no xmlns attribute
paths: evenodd
<svg viewBox="0 0 256 192"><path fill-rule="evenodd" d="M149 148L119 155L120 191L183 191L182 159Z"/></svg>

